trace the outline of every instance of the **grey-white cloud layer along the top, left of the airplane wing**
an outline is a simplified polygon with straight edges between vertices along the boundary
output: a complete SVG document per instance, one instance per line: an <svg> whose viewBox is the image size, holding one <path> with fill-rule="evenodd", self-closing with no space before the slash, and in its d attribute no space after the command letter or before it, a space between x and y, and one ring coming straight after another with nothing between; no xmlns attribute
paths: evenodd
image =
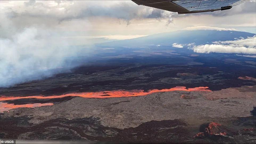
<svg viewBox="0 0 256 144"><path fill-rule="evenodd" d="M108 17L125 20L132 19L166 20L173 22L172 15L165 10L139 6L132 1L25 1L15 5L4 5L1 11L14 17L49 18L59 22L89 17Z"/></svg>

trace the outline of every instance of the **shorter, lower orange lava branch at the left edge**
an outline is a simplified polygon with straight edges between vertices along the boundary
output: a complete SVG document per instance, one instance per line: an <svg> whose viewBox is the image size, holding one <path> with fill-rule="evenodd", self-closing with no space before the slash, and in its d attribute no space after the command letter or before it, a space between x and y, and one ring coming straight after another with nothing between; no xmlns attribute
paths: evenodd
<svg viewBox="0 0 256 144"><path fill-rule="evenodd" d="M9 111L13 108L34 108L34 107L41 107L46 105L53 105L53 103L35 103L35 104L21 104L21 105L14 105L14 104L7 104L7 103L0 103L0 112Z"/></svg>

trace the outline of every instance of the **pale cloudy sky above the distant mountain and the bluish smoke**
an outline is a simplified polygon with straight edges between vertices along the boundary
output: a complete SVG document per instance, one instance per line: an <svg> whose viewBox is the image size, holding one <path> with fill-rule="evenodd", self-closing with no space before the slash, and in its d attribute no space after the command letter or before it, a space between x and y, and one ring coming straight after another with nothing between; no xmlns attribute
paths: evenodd
<svg viewBox="0 0 256 144"><path fill-rule="evenodd" d="M31 27L50 30L74 44L199 26L256 33L255 9L255 1L246 1L230 10L178 15L133 1L1 1L1 37Z"/></svg>

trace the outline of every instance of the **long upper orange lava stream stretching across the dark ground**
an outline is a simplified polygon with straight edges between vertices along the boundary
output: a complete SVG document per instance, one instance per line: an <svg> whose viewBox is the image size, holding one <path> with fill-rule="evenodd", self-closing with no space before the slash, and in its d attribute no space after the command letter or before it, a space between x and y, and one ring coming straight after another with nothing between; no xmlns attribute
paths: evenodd
<svg viewBox="0 0 256 144"><path fill-rule="evenodd" d="M144 92L144 90L131 90L131 91L126 91L126 90L116 90L116 91L104 91L104 92L77 92L77 93L70 93L70 94L64 94L64 95L52 95L52 96L1 96L0 101L6 101L6 100L17 100L17 99L54 99L54 98L64 98L67 96L79 96L82 98L121 98L121 97L129 97L129 96L144 96L148 94L152 94L155 92L168 92L168 91L211 91L211 90L206 90L209 87L195 87L195 88L186 88L186 87L174 87L170 89L163 89L163 90L149 90L148 92Z"/></svg>

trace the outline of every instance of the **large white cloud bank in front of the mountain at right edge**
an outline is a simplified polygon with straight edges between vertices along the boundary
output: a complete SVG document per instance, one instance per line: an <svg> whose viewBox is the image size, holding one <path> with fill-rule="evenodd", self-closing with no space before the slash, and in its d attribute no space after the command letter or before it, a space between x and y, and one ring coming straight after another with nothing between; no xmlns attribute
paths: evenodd
<svg viewBox="0 0 256 144"><path fill-rule="evenodd" d="M196 53L242 53L256 54L256 36L234 41L215 41L213 44L192 47Z"/></svg>

